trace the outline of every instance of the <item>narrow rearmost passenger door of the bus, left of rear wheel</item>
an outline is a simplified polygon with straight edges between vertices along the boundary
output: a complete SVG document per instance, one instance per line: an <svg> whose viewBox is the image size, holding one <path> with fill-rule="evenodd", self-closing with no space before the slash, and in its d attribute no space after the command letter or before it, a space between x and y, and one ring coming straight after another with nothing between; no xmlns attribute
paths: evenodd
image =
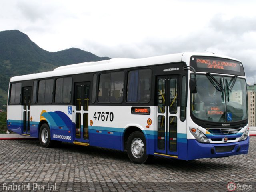
<svg viewBox="0 0 256 192"><path fill-rule="evenodd" d="M22 88L23 129L22 134L30 135L31 87Z"/></svg>

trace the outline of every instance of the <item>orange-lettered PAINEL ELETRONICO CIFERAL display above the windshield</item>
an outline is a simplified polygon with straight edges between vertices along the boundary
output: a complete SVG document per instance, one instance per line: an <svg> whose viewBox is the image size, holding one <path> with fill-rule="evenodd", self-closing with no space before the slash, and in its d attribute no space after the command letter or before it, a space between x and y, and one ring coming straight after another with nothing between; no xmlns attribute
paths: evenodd
<svg viewBox="0 0 256 192"><path fill-rule="evenodd" d="M196 58L196 65L198 68L232 70L240 72L240 63L233 61Z"/></svg>

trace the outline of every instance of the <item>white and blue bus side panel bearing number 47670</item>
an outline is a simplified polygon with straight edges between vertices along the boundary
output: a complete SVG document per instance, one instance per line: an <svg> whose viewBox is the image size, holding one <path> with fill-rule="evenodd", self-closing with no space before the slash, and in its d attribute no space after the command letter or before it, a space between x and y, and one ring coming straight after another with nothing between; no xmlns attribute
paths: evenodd
<svg viewBox="0 0 256 192"><path fill-rule="evenodd" d="M154 122L150 128L146 128L148 119L154 119L153 107L148 106L151 108L150 115L132 114L132 107L89 106L90 145L124 150L124 132L127 128L134 127L142 130L148 144L147 152L154 154Z"/></svg>

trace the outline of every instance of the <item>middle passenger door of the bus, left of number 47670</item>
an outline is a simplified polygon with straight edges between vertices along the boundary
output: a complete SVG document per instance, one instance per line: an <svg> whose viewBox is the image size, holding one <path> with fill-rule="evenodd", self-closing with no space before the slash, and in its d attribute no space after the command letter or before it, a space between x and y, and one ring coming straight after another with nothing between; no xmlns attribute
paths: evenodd
<svg viewBox="0 0 256 192"><path fill-rule="evenodd" d="M76 100L76 112L75 112L75 140L78 142L89 142L88 132L88 111L89 111L89 93L90 83L76 83L75 85L75 100Z"/></svg>

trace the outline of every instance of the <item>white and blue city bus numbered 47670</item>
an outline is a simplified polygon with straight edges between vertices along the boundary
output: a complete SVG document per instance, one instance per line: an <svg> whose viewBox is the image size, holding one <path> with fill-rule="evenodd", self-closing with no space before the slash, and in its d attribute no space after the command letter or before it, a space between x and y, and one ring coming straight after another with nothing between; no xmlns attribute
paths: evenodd
<svg viewBox="0 0 256 192"><path fill-rule="evenodd" d="M43 147L70 142L127 151L134 163L247 154L246 79L227 56L114 58L16 76L8 130Z"/></svg>

